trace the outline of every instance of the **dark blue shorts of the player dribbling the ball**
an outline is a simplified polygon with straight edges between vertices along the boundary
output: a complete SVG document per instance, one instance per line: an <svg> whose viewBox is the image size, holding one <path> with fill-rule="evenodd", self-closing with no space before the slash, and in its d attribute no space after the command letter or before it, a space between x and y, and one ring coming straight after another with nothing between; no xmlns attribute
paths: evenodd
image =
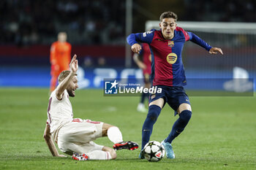
<svg viewBox="0 0 256 170"><path fill-rule="evenodd" d="M174 115L177 115L177 109L181 104L189 104L189 96L187 96L184 88L182 86L178 87L170 87L166 85L157 85L157 88L162 88L162 93L152 93L149 98L149 104L152 101L155 101L159 98L163 98L165 104L169 104L169 106L175 111Z"/></svg>

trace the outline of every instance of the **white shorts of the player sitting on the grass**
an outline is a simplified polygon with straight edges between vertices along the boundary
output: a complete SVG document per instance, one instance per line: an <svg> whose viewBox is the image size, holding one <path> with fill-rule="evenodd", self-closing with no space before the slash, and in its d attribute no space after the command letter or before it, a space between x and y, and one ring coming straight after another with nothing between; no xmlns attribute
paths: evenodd
<svg viewBox="0 0 256 170"><path fill-rule="evenodd" d="M72 155L88 153L93 150L102 150L104 146L93 140L102 137L102 122L74 119L71 123L62 126L58 134L58 146L61 152Z"/></svg>

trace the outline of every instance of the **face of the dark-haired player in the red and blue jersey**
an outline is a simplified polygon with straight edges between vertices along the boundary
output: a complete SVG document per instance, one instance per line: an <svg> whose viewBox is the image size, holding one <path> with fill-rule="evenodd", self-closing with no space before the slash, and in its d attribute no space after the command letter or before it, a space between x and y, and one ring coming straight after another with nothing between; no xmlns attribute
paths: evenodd
<svg viewBox="0 0 256 170"><path fill-rule="evenodd" d="M165 39L173 38L176 26L176 20L173 18L164 18L162 22L159 23L159 27L162 29L162 35Z"/></svg>

